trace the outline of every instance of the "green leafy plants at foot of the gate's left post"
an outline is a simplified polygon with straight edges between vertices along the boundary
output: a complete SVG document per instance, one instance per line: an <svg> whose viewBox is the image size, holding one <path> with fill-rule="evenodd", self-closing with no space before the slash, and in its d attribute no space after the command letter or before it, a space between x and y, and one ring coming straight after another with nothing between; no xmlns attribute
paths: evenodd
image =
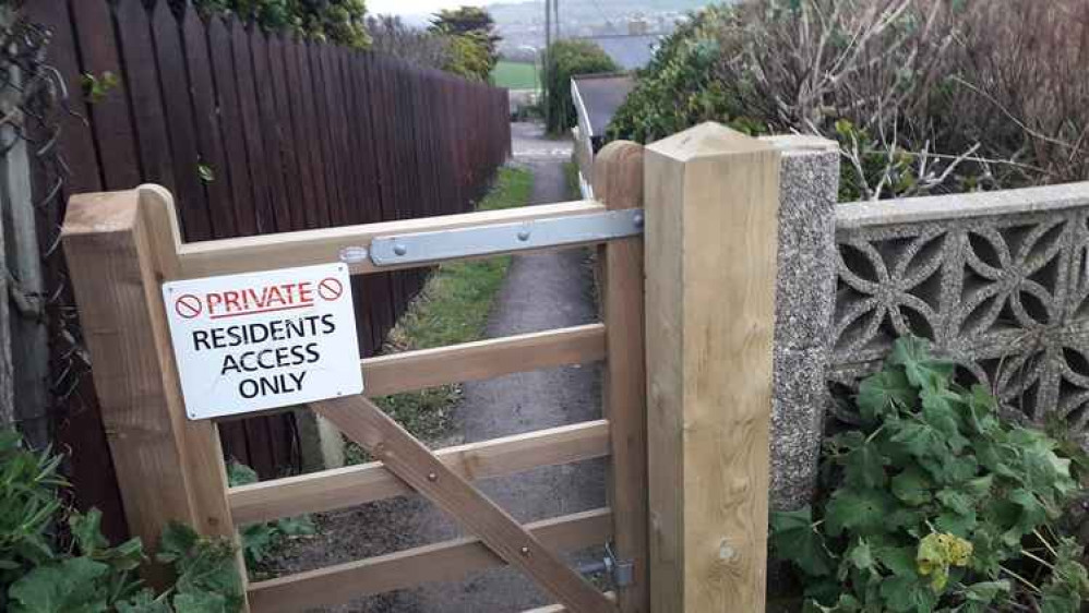
<svg viewBox="0 0 1089 613"><path fill-rule="evenodd" d="M139 538L110 546L101 514L61 501L62 456L33 453L0 431L0 611L12 613L235 613L243 604L235 548L171 525L156 560L175 584L155 593L136 575ZM58 546L60 543L61 546Z"/></svg>

